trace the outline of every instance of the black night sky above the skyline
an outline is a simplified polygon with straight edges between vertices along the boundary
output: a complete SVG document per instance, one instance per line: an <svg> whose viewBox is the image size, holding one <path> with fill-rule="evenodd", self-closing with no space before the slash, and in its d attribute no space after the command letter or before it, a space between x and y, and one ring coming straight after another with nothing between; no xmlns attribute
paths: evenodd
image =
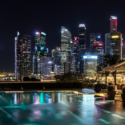
<svg viewBox="0 0 125 125"><path fill-rule="evenodd" d="M111 15L118 17L118 31L124 37L124 0L0 1L0 72L3 69L14 72L14 37L17 31L32 36L36 31L46 32L47 47L51 50L61 45L61 26L65 26L74 37L78 36L78 25L85 23L89 47L90 33L101 33L104 41L105 33L110 30Z"/></svg>

